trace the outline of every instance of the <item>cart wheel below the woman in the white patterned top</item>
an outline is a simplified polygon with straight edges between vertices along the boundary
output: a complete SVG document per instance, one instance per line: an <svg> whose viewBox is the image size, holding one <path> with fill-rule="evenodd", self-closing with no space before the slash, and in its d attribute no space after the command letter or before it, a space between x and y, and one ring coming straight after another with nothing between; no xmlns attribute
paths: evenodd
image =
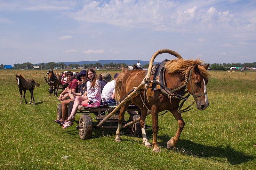
<svg viewBox="0 0 256 170"><path fill-rule="evenodd" d="M86 114L81 115L79 126L83 126L82 128L79 128L80 139L90 139L92 137L92 117Z"/></svg>

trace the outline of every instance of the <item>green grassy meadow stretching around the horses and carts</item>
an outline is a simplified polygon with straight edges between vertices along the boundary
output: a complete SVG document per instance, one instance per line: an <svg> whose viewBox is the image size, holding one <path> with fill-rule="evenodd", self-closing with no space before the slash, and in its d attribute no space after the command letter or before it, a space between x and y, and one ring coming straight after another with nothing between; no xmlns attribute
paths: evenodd
<svg viewBox="0 0 256 170"><path fill-rule="evenodd" d="M160 153L145 148L141 138L122 129L93 130L81 140L76 125L62 129L53 122L57 104L49 97L46 70L0 70L0 169L255 169L256 167L256 72L210 71L207 85L210 106L182 114L185 121L180 141L172 151L166 142L178 124L171 113L159 116ZM80 71L79 71L80 72ZM102 70L97 73L103 73ZM114 76L115 71L109 71ZM35 104L20 104L15 74L40 84ZM58 93L60 94L60 93ZM29 102L30 93L26 99ZM92 118L95 117L92 115ZM152 125L151 116L146 119ZM94 125L96 125L94 120ZM152 129L146 130L152 144ZM61 157L69 156L67 159Z"/></svg>

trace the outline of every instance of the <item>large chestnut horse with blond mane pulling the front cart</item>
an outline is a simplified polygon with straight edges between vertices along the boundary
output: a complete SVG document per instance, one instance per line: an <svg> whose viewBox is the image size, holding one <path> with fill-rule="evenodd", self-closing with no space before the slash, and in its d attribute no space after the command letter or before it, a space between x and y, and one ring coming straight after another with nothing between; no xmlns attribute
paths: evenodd
<svg viewBox="0 0 256 170"><path fill-rule="evenodd" d="M174 52L172 55L177 56L176 54ZM203 66L203 62L199 59L183 60L181 56L180 59L178 56L177 58L178 59L168 61L164 65L165 85L158 84L162 89L158 87L159 89L151 90L152 83L157 83L157 81L152 81L153 75L151 75L149 86L143 86L130 98L130 100L128 100L128 102L121 106L118 128L116 130L116 142L121 141L120 128L124 120L124 113L131 103L134 103L141 109L140 127L142 130L143 143L149 148L151 148L151 144L148 142L144 126L147 111L151 111L153 152L160 152L157 144L159 112L169 110L178 122L178 130L176 134L167 142L167 148L171 150L177 144L181 131L185 126L185 122L180 114L184 110L179 110L179 103L181 99L187 99L187 96L184 97L183 94L187 92L192 94L194 97L194 103L196 103L196 107L199 110L205 110L209 106L206 92L206 85L209 77L209 73L206 69L209 64ZM145 71L131 70L127 72L127 70L122 69L122 73L120 73L116 79L116 100L124 98L127 93L133 91L134 88L140 85L144 78Z"/></svg>

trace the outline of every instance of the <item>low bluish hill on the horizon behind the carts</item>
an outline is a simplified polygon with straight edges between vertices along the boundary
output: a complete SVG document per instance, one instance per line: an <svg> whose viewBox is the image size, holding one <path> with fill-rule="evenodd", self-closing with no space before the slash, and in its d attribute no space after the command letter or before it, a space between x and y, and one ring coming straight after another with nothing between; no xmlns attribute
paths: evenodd
<svg viewBox="0 0 256 170"><path fill-rule="evenodd" d="M126 65L133 65L133 64L136 64L137 63L137 60L98 60L98 61L78 61L78 62L58 62L58 63L64 63L64 64L79 64L79 65L83 65L83 64L95 64L95 63L101 63L102 66L103 64L106 64L106 63L125 63ZM141 66L145 65L145 64L148 64L149 61L143 61L143 60L140 60L140 64ZM154 65L157 64L157 63L161 63L161 62L154 62Z"/></svg>

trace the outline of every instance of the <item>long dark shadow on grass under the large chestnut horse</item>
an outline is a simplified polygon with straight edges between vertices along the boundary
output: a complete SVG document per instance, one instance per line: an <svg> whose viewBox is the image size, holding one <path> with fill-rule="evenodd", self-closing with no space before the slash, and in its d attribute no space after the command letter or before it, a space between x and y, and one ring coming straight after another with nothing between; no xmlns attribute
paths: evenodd
<svg viewBox="0 0 256 170"><path fill-rule="evenodd" d="M159 142L159 146L167 149L167 141L171 139L169 136L158 136L159 139L163 140L164 142ZM256 157L246 155L244 152L237 151L232 148L230 145L227 146L207 146L202 144L197 144L191 142L189 140L180 139L177 143L174 150L177 150L180 153L184 153L188 156L197 156L199 158L212 158L216 157L217 161L225 162L226 160L232 164L242 164L247 161L251 161L256 159ZM223 158L223 159L218 159Z"/></svg>

